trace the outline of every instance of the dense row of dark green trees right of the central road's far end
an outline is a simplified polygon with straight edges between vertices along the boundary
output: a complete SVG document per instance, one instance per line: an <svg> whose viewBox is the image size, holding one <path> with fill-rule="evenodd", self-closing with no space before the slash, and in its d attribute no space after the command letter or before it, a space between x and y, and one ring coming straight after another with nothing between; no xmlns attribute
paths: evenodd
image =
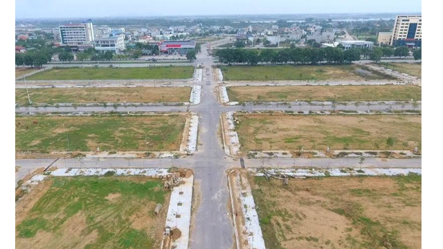
<svg viewBox="0 0 443 249"><path fill-rule="evenodd" d="M262 63L286 64L345 64L358 61L361 51L356 48L342 50L341 48L286 48L283 50L263 49L258 53L251 49L221 49L217 50L219 62L224 64L249 64Z"/></svg>

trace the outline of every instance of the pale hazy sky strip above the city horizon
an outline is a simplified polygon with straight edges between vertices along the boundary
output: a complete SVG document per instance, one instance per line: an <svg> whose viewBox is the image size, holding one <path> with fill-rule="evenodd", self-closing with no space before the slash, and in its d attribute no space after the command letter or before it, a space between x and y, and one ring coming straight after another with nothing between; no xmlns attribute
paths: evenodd
<svg viewBox="0 0 443 249"><path fill-rule="evenodd" d="M2 1L3 18L162 15L314 14L443 11L441 0L14 0Z"/></svg>

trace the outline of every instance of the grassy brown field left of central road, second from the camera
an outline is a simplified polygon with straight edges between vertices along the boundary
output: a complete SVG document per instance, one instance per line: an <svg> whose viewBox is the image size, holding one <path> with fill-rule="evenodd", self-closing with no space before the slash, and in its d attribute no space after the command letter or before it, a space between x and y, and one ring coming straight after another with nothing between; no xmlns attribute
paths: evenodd
<svg viewBox="0 0 443 249"><path fill-rule="evenodd" d="M185 114L20 117L15 118L15 150L177 151L185 122Z"/></svg>

